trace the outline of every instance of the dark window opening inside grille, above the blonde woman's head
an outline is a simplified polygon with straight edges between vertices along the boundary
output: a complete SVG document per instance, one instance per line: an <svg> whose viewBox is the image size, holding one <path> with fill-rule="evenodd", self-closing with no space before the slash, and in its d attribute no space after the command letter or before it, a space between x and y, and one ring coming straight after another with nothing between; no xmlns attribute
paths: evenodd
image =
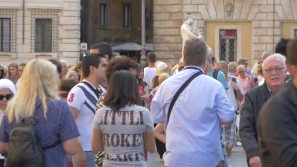
<svg viewBox="0 0 297 167"><path fill-rule="evenodd" d="M36 19L35 21L35 52L51 52L52 20Z"/></svg>

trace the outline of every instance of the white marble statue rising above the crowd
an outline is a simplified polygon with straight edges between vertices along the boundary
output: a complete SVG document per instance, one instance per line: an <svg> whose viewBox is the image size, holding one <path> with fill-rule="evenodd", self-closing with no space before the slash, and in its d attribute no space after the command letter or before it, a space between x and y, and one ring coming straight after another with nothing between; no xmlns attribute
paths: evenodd
<svg viewBox="0 0 297 167"><path fill-rule="evenodd" d="M184 54L184 45L186 41L190 39L195 39L195 38L203 39L202 31L199 33L199 36L195 35L197 27L194 25L194 20L195 20L194 16L191 15L191 13L188 13L186 16L187 16L187 21L180 27L181 35L183 38L182 54Z"/></svg>

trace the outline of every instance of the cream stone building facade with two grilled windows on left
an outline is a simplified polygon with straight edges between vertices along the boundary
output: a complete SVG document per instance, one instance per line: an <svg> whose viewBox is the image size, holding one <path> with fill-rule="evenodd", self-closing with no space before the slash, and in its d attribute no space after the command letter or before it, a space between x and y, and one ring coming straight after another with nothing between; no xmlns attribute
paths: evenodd
<svg viewBox="0 0 297 167"><path fill-rule="evenodd" d="M0 0L0 63L34 58L76 63L80 9L80 0Z"/></svg>

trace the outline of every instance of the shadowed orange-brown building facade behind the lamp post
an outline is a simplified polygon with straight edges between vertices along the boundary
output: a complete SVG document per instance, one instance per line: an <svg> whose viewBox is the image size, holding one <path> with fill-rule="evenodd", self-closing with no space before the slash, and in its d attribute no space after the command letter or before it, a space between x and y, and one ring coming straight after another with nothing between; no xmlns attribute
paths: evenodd
<svg viewBox="0 0 297 167"><path fill-rule="evenodd" d="M153 41L153 0L145 1L146 42ZM82 0L81 39L91 46L141 43L141 0Z"/></svg>

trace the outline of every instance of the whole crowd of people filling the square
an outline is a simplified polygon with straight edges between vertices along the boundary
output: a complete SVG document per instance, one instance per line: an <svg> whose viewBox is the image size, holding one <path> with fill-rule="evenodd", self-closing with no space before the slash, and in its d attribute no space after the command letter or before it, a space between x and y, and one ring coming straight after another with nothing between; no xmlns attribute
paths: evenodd
<svg viewBox="0 0 297 167"><path fill-rule="evenodd" d="M74 66L1 65L0 167L146 167L155 150L166 167L231 167L241 145L250 167L296 167L296 48L282 39L253 68L217 61L201 39L173 68L105 42Z"/></svg>

